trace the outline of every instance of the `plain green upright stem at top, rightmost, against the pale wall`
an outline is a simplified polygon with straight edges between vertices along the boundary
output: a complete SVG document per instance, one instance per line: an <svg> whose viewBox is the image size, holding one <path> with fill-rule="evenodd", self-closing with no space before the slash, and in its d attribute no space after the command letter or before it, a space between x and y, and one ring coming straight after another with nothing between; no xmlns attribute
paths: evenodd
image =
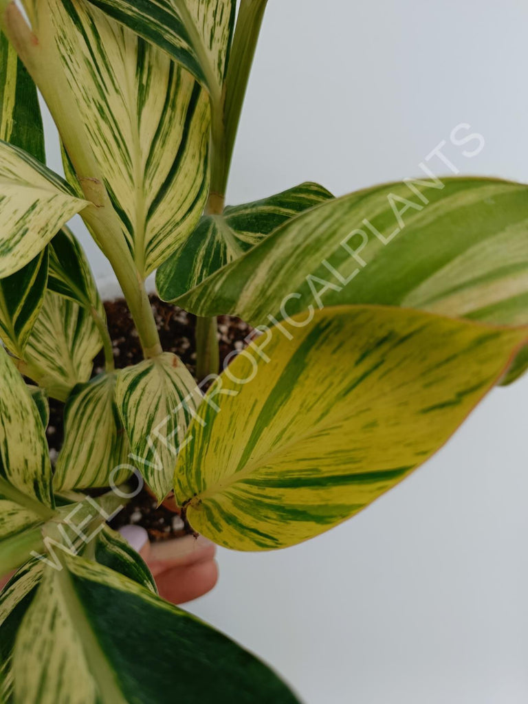
<svg viewBox="0 0 528 704"><path fill-rule="evenodd" d="M268 0L241 0L225 79L225 178L229 175L240 114Z"/></svg>

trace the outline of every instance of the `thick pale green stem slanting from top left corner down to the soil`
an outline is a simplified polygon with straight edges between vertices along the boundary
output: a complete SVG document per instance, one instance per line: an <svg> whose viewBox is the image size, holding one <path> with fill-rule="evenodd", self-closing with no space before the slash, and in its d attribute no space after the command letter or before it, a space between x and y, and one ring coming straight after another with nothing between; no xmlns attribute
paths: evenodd
<svg viewBox="0 0 528 704"><path fill-rule="evenodd" d="M99 165L84 139L75 100L73 97L68 99L70 86L56 54L51 27L43 23L39 37L36 37L15 3L6 0L0 0L0 27L39 87L73 163L84 196L93 203L82 211L82 218L118 278L144 355L147 358L157 356L162 348L149 297L122 234L118 215L103 185ZM50 36L46 32L50 32Z"/></svg>

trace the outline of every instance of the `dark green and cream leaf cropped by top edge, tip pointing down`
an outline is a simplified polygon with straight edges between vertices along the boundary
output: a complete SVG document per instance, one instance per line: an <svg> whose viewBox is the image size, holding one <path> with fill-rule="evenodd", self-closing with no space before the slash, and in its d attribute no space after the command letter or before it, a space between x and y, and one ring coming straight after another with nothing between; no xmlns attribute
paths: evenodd
<svg viewBox="0 0 528 704"><path fill-rule="evenodd" d="M184 65L218 96L227 65L235 0L91 0Z"/></svg>

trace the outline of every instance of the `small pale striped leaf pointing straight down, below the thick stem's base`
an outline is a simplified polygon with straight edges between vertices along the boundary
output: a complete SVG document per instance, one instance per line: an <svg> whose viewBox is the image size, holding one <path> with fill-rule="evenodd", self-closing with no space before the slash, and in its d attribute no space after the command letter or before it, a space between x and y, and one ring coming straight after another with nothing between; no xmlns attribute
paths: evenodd
<svg viewBox="0 0 528 704"><path fill-rule="evenodd" d="M115 398L130 456L161 502L172 489L177 453L200 391L182 360L165 352L120 370Z"/></svg>

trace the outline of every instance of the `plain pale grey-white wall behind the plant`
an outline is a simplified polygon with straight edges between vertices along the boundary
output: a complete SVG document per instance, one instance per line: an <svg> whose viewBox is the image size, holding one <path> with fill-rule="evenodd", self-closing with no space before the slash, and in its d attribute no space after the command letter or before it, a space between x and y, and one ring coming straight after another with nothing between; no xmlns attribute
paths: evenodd
<svg viewBox="0 0 528 704"><path fill-rule="evenodd" d="M419 175L460 122L486 141L472 160L446 151L460 170L528 181L527 29L524 0L270 0L228 200ZM220 583L191 610L306 704L525 704L527 411L525 378L347 524L288 551L220 551Z"/></svg>

